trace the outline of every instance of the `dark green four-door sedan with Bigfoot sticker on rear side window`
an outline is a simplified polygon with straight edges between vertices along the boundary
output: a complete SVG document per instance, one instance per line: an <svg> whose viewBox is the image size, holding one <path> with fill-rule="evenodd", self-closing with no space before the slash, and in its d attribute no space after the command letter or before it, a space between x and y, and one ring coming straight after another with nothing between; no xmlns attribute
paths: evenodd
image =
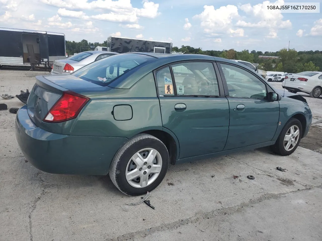
<svg viewBox="0 0 322 241"><path fill-rule="evenodd" d="M154 190L169 164L271 146L295 151L312 113L237 62L124 53L71 75L36 76L15 133L36 168L109 174L127 195Z"/></svg>

